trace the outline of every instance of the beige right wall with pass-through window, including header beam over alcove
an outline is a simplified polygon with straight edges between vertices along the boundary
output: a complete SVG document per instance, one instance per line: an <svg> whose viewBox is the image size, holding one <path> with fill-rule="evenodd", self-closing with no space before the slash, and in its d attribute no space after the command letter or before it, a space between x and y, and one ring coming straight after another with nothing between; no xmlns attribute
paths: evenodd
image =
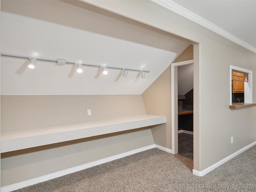
<svg viewBox="0 0 256 192"><path fill-rule="evenodd" d="M198 113L194 117L198 125L194 133L198 144L198 152L194 154L197 171L256 141L256 118L253 117L256 107L229 109L230 65L247 68L255 74L256 53L152 1L86 2L199 43L194 61L194 95L198 100L194 102L194 110ZM253 79L255 82L255 75ZM256 102L256 84L252 89L253 102ZM233 144L231 136L234 136Z"/></svg>

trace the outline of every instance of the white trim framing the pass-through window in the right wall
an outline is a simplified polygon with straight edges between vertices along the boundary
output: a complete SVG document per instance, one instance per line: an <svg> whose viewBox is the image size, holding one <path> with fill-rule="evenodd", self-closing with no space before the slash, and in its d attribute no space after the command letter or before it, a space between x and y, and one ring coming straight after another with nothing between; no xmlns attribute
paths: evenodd
<svg viewBox="0 0 256 192"><path fill-rule="evenodd" d="M244 103L252 103L252 71L241 67L230 65L230 105L232 105L232 70L238 70L248 73L248 82L244 82Z"/></svg>

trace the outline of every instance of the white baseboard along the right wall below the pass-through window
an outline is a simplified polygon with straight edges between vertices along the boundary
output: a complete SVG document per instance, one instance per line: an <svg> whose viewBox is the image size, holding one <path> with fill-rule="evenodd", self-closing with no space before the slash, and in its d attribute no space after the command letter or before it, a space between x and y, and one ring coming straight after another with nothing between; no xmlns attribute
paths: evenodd
<svg viewBox="0 0 256 192"><path fill-rule="evenodd" d="M231 154L230 156L227 156L226 158L216 162L215 164L211 165L210 167L202 170L202 171L197 171L193 169L193 174L197 175L197 176L204 176L205 174L209 173L210 171L214 170L215 168L217 168L218 166L224 164L225 162L227 162L228 160L234 158L235 156L239 155L240 153L244 152L245 150L251 148L252 146L254 146L256 144L256 141L253 142L252 144L249 144L248 146L245 146L244 148L238 150L237 152L234 152L233 154Z"/></svg>

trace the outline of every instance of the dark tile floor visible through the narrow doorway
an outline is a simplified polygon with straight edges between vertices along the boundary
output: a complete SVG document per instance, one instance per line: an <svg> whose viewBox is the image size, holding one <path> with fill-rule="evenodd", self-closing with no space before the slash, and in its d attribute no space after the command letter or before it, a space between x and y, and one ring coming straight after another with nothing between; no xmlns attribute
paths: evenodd
<svg viewBox="0 0 256 192"><path fill-rule="evenodd" d="M178 133L178 154L193 160L193 135Z"/></svg>

